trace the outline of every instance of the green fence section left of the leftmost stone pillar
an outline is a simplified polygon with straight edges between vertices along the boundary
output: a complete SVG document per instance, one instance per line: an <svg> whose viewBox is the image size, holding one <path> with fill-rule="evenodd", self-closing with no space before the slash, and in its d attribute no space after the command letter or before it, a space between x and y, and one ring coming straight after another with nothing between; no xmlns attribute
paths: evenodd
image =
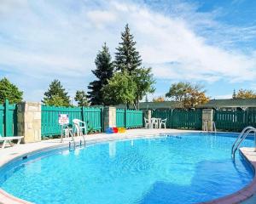
<svg viewBox="0 0 256 204"><path fill-rule="evenodd" d="M9 100L0 105L0 134L3 137L17 135L17 105L9 105Z"/></svg>

